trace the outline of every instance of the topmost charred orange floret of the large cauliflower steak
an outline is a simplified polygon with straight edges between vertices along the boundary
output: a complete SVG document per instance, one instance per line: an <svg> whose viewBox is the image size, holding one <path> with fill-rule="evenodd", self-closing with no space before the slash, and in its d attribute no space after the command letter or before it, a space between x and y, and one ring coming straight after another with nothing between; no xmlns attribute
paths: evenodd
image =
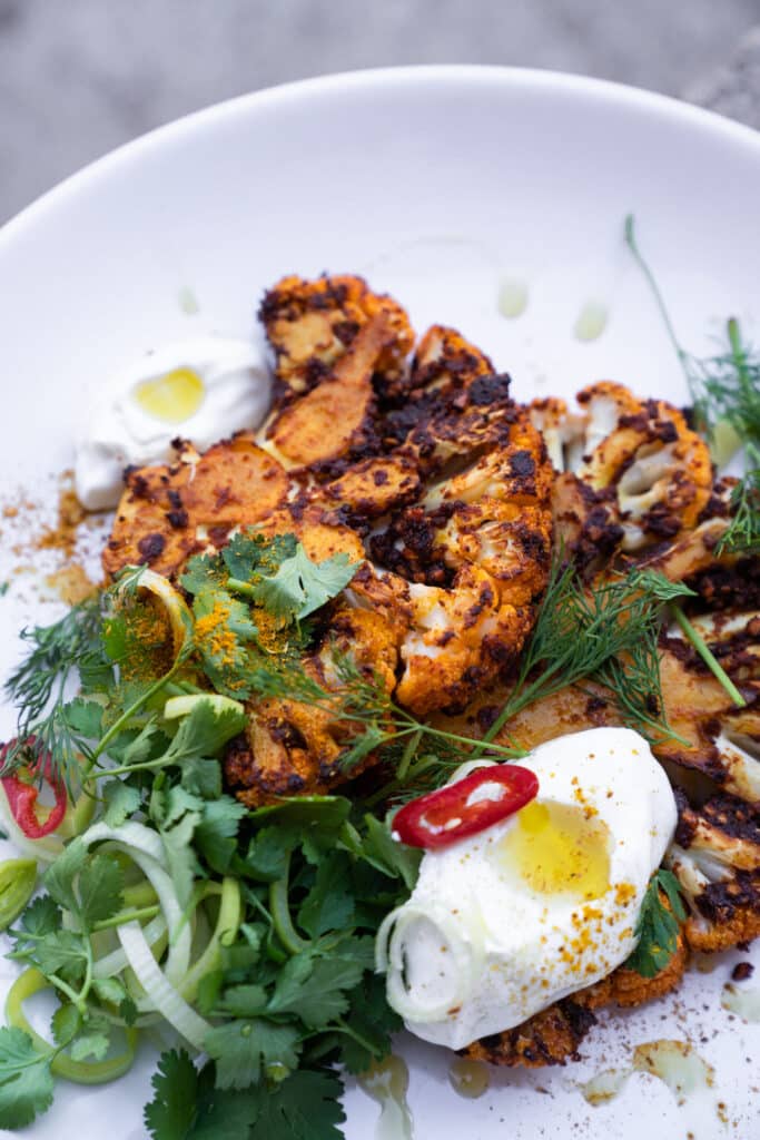
<svg viewBox="0 0 760 1140"><path fill-rule="evenodd" d="M381 393L407 386L407 357L414 333L392 298L373 293L361 277L284 277L264 294L259 317L275 351L279 400L311 391L333 374L361 328L378 316L389 337L375 365Z"/></svg>

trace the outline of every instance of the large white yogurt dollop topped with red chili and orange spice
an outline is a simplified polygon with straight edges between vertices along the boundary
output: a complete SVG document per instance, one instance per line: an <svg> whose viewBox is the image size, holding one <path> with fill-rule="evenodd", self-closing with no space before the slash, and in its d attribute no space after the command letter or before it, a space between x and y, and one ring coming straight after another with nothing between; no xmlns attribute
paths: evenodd
<svg viewBox="0 0 760 1140"><path fill-rule="evenodd" d="M637 943L677 821L672 789L629 728L561 736L518 762L534 800L426 852L378 935L390 1004L425 1041L461 1049L611 974ZM464 765L456 779L473 766Z"/></svg>

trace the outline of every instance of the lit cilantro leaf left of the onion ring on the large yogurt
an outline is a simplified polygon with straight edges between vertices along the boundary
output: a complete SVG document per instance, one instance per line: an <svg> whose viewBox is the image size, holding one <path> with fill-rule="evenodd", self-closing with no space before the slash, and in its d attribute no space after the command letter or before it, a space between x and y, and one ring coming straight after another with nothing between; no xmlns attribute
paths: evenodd
<svg viewBox="0 0 760 1140"><path fill-rule="evenodd" d="M346 991L359 984L363 967L350 958L320 958L304 977L304 958L308 954L295 954L285 963L268 1011L293 1013L310 1029L319 1029L345 1013Z"/></svg>

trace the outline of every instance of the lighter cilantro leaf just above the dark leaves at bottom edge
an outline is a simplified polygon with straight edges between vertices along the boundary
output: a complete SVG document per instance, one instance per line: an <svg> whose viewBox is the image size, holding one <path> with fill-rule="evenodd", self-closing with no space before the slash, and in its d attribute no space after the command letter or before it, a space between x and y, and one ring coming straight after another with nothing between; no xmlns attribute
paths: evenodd
<svg viewBox="0 0 760 1140"><path fill-rule="evenodd" d="M261 1077L262 1066L299 1064L299 1029L262 1018L215 1026L205 1040L206 1052L216 1061L218 1089L247 1089Z"/></svg>

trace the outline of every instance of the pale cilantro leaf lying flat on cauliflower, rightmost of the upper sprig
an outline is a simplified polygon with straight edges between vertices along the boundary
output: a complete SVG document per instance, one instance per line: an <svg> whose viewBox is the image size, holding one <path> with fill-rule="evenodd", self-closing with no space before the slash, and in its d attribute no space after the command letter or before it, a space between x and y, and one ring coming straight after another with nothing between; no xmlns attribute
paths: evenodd
<svg viewBox="0 0 760 1140"><path fill-rule="evenodd" d="M300 621L340 594L357 568L348 554L312 562L299 543L295 554L280 562L276 573L261 576L253 586L253 596L273 617Z"/></svg>

